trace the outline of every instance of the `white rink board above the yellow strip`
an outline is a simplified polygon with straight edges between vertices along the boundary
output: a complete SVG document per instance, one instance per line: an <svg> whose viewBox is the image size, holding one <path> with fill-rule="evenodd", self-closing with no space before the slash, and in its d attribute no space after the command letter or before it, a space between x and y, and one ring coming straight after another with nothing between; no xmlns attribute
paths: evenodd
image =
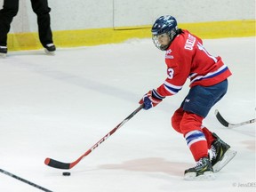
<svg viewBox="0 0 256 192"><path fill-rule="evenodd" d="M4 0L0 0L2 7ZM255 20L254 0L48 0L52 8L52 30L120 28L152 25L164 14L180 23ZM37 32L36 14L28 0L20 0L20 11L11 33Z"/></svg>

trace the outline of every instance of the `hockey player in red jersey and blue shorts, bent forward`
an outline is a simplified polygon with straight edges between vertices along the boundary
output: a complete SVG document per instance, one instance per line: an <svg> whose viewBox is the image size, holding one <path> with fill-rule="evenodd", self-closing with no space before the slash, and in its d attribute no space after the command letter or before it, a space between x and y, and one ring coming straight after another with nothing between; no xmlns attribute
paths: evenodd
<svg viewBox="0 0 256 192"><path fill-rule="evenodd" d="M187 78L190 90L173 116L172 127L187 141L196 166L185 171L185 180L212 180L236 156L236 151L202 124L212 106L227 92L231 72L221 58L212 56L203 41L177 27L174 17L158 18L152 29L156 47L165 51L167 77L164 84L146 93L140 100L144 109L155 107L166 96L180 91ZM212 158L208 155L212 150Z"/></svg>

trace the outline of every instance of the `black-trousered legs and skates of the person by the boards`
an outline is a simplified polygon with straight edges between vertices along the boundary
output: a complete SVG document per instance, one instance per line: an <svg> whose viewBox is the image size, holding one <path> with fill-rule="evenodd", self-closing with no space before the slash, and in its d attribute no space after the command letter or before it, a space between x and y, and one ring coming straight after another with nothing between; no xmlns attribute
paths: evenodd
<svg viewBox="0 0 256 192"><path fill-rule="evenodd" d="M39 39L46 53L53 54L56 48L52 42L52 29L50 27L51 8L47 0L31 0L33 11L37 15ZM7 54L7 34L10 31L13 17L19 10L19 0L4 0L3 9L0 10L0 56Z"/></svg>

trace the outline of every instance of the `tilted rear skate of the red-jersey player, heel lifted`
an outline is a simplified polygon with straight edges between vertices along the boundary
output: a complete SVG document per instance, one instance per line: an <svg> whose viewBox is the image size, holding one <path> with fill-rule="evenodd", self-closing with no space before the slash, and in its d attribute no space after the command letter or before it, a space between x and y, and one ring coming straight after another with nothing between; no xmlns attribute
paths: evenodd
<svg viewBox="0 0 256 192"><path fill-rule="evenodd" d="M219 172L229 161L231 161L234 156L236 156L236 151L232 150L230 146L223 140L220 140L218 135L212 132L213 137L216 138L212 142L212 168L213 172Z"/></svg>

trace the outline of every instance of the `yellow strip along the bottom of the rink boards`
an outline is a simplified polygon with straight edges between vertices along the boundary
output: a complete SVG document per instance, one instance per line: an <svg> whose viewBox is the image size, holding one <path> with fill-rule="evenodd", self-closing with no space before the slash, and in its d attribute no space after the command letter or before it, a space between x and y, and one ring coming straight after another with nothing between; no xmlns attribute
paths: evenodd
<svg viewBox="0 0 256 192"><path fill-rule="evenodd" d="M186 28L203 39L255 36L255 20L180 23L179 28ZM150 29L148 25L53 31L53 41L57 48L116 44L132 38L150 38ZM42 48L37 32L8 34L9 51Z"/></svg>

